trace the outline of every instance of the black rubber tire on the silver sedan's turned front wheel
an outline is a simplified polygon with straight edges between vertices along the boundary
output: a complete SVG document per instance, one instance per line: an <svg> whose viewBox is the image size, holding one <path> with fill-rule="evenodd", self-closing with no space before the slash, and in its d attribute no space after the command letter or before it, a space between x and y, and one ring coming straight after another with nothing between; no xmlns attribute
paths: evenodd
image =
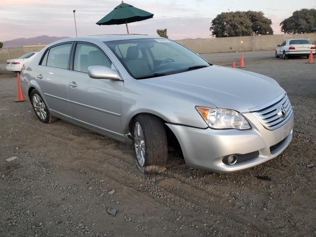
<svg viewBox="0 0 316 237"><path fill-rule="evenodd" d="M144 144L144 164L142 165L137 158L135 141L135 125L140 124ZM167 135L163 125L163 121L153 115L139 115L134 119L133 127L131 129L133 137L134 158L138 169L143 174L156 174L163 172L167 164L168 145Z"/></svg>

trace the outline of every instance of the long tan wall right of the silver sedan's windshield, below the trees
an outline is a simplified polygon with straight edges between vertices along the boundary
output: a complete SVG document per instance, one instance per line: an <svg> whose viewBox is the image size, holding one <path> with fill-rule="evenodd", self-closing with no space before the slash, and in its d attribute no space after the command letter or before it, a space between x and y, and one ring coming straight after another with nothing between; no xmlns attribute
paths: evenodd
<svg viewBox="0 0 316 237"><path fill-rule="evenodd" d="M197 53L274 50L277 44L289 39L309 39L316 44L316 34L244 36L196 40L175 40ZM239 43L241 42L241 43Z"/></svg>

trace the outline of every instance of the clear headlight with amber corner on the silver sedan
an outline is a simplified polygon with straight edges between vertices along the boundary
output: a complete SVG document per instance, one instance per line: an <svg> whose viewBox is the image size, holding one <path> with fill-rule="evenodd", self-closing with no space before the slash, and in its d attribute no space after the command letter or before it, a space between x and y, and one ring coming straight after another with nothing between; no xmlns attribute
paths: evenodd
<svg viewBox="0 0 316 237"><path fill-rule="evenodd" d="M251 129L246 118L235 110L196 107L210 128L214 129Z"/></svg>

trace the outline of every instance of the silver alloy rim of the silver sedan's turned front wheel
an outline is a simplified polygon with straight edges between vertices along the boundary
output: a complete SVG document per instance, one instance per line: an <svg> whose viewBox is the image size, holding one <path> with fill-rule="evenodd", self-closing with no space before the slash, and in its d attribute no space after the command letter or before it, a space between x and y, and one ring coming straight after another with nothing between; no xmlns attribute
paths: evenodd
<svg viewBox="0 0 316 237"><path fill-rule="evenodd" d="M135 123L134 127L134 145L138 164L141 167L145 165L145 139L142 127L139 122Z"/></svg>

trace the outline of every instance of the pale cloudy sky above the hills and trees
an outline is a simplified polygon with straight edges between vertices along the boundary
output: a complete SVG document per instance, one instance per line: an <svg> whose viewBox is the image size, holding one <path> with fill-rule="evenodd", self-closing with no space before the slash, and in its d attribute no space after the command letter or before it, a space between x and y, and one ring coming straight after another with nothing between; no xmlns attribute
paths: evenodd
<svg viewBox="0 0 316 237"><path fill-rule="evenodd" d="M316 8L315 0L125 0L125 3L154 13L154 18L130 23L132 34L157 35L167 28L172 40L209 38L211 20L221 12L262 11L272 19L275 34L280 22L301 8ZM125 34L125 25L98 26L95 23L120 0L1 0L0 41L41 35L78 36Z"/></svg>

